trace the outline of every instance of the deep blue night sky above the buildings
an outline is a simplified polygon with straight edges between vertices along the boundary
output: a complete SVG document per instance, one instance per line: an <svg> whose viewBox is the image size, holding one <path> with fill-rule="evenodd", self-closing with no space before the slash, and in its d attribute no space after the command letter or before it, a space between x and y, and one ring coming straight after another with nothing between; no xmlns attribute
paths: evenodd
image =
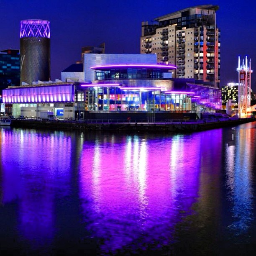
<svg viewBox="0 0 256 256"><path fill-rule="evenodd" d="M106 43L106 53L139 53L141 21L196 5L219 5L221 86L237 82L238 55L256 70L256 1L249 0L0 0L0 50L19 49L23 19L51 22L51 79L81 59L82 46ZM256 88L256 74L252 75Z"/></svg>

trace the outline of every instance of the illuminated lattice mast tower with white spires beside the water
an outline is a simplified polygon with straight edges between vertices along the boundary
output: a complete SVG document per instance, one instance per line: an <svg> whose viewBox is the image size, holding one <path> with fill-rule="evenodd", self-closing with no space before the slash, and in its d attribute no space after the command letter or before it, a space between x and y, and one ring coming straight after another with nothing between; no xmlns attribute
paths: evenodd
<svg viewBox="0 0 256 256"><path fill-rule="evenodd" d="M236 71L238 72L238 116L246 118L248 115L246 110L251 107L251 73L253 72L251 59L248 67L247 56L245 63L243 59L242 65L239 56Z"/></svg>

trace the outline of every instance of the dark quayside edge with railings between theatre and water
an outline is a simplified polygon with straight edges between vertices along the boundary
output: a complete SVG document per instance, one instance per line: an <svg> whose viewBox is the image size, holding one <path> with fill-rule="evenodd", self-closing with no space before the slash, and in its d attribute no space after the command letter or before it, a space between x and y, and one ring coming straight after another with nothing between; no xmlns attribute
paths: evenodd
<svg viewBox="0 0 256 256"><path fill-rule="evenodd" d="M170 132L170 131L202 131L225 126L236 126L256 121L254 118L207 118L200 120L57 120L45 121L36 119L12 120L11 126L20 128L38 128L54 130L81 131L138 131L138 132Z"/></svg>

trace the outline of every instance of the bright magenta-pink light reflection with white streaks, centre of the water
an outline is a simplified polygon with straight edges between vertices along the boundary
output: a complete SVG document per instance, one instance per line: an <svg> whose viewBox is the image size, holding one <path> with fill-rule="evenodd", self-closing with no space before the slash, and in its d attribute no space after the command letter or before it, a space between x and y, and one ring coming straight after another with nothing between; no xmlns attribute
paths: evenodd
<svg viewBox="0 0 256 256"><path fill-rule="evenodd" d="M138 239L141 247L171 243L180 210L189 212L197 197L199 152L198 139L186 143L183 136L154 141L127 136L123 144L113 138L83 149L80 197L90 198L93 209L88 217L88 204L82 203L84 218L93 236L103 238L103 252L115 253ZM146 241L145 233L150 233Z"/></svg>

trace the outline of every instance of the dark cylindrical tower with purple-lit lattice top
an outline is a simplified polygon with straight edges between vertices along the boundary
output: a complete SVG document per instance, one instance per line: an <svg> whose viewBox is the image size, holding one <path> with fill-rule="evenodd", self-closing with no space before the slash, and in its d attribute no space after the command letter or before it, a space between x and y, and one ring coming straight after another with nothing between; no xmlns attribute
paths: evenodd
<svg viewBox="0 0 256 256"><path fill-rule="evenodd" d="M50 80L50 22L20 21L20 83Z"/></svg>

